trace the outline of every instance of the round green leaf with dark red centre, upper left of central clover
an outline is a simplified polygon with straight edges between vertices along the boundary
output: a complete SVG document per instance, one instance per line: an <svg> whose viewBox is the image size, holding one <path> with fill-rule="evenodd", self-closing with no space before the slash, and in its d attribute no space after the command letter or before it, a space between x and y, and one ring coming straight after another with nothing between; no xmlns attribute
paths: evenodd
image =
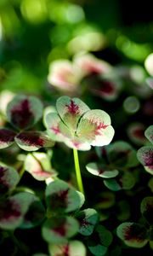
<svg viewBox="0 0 153 256"><path fill-rule="evenodd" d="M42 102L35 96L18 95L8 103L8 121L19 130L35 125L42 117Z"/></svg>

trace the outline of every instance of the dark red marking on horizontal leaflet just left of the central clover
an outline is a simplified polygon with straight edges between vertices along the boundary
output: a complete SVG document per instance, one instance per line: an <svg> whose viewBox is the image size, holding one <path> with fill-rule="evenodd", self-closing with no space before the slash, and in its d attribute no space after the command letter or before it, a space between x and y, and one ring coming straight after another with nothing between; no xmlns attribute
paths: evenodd
<svg viewBox="0 0 153 256"><path fill-rule="evenodd" d="M40 134L38 132L22 132L17 136L20 141L23 143L26 143L28 146L40 146L43 147L44 140L42 137L40 137Z"/></svg>

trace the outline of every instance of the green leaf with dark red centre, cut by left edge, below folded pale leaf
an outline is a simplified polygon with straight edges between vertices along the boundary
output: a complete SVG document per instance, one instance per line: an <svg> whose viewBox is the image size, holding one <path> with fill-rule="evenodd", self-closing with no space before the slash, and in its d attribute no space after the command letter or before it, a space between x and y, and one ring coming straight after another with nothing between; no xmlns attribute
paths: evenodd
<svg viewBox="0 0 153 256"><path fill-rule="evenodd" d="M20 175L10 166L0 166L0 196L13 190L20 181Z"/></svg>

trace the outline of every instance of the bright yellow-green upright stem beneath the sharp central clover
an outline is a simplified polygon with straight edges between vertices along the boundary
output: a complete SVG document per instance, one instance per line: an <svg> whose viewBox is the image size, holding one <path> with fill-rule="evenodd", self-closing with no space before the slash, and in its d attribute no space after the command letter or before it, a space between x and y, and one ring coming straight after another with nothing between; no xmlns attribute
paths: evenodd
<svg viewBox="0 0 153 256"><path fill-rule="evenodd" d="M82 174L80 172L78 153L77 153L77 149L75 148L73 148L73 155L74 155L74 162L75 162L75 169L76 169L77 186L79 191L82 192L82 194L84 195L84 189L82 185Z"/></svg>

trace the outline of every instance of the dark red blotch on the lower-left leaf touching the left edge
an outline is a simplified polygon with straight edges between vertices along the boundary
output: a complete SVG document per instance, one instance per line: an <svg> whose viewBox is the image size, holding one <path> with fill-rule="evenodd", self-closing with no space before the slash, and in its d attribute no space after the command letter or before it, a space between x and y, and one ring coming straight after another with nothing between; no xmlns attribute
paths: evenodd
<svg viewBox="0 0 153 256"><path fill-rule="evenodd" d="M8 201L3 203L0 206L0 220L6 221L9 218L18 218L20 217L20 206L16 201Z"/></svg>

